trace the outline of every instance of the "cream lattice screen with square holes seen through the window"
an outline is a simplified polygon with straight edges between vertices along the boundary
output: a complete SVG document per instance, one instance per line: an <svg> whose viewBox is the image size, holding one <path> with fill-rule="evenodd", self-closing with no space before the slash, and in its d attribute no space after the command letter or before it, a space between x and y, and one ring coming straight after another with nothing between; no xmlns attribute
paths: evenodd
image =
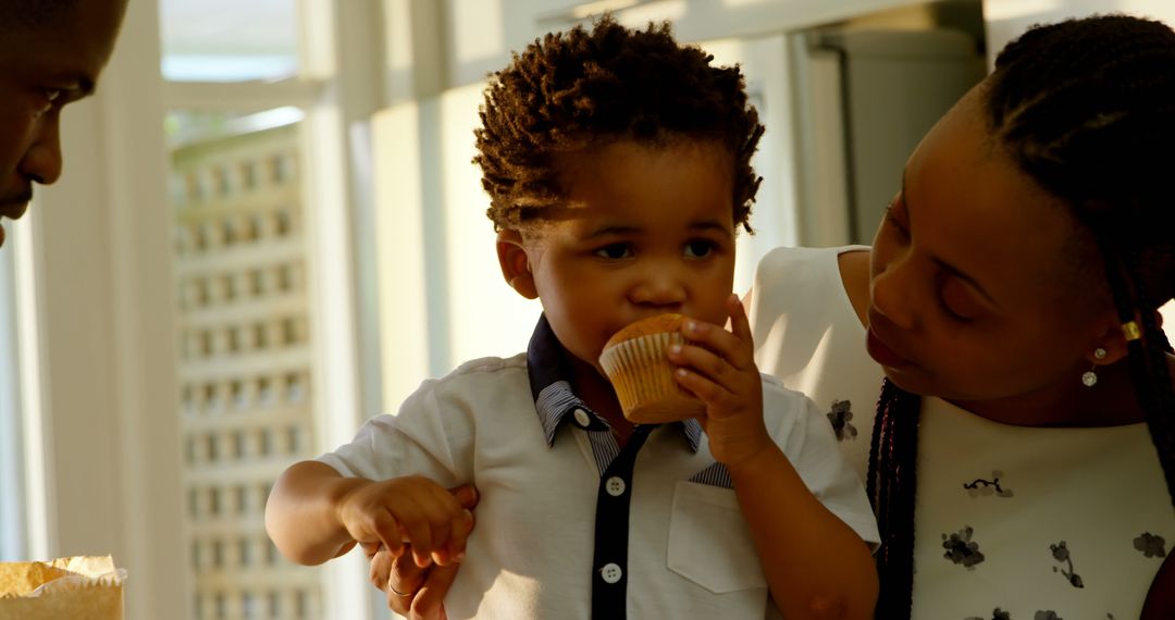
<svg viewBox="0 0 1175 620"><path fill-rule="evenodd" d="M297 123L173 151L184 514L196 620L322 615L321 575L264 532L314 445Z"/></svg>

